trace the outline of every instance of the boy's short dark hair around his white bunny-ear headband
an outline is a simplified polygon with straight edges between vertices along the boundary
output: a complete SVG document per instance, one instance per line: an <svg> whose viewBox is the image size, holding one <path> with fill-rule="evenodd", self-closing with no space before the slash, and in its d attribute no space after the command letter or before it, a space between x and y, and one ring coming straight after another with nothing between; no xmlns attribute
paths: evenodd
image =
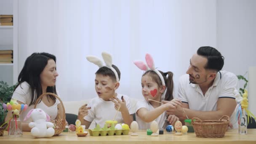
<svg viewBox="0 0 256 144"><path fill-rule="evenodd" d="M112 67L117 71L117 75L118 75L118 78L119 78L119 81L120 81L121 73L120 73L119 69L114 64L112 64ZM111 69L109 69L108 67L99 68L95 74L109 76L114 82L117 81L117 79L115 77L115 73Z"/></svg>

